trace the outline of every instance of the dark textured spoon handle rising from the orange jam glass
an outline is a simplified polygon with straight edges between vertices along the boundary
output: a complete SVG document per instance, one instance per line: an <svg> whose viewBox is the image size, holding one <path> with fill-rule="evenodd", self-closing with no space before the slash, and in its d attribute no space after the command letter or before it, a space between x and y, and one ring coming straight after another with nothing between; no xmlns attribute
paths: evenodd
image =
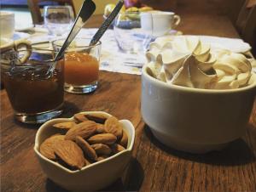
<svg viewBox="0 0 256 192"><path fill-rule="evenodd" d="M119 10L122 8L123 5L124 0L119 0L119 3L117 3L115 8L113 8L111 14L109 14L108 18L102 23L101 27L98 29L98 31L96 31L94 37L92 37L92 39L90 40L90 46L95 45L100 40L105 31L108 29L108 26L111 25L115 16L119 14Z"/></svg>

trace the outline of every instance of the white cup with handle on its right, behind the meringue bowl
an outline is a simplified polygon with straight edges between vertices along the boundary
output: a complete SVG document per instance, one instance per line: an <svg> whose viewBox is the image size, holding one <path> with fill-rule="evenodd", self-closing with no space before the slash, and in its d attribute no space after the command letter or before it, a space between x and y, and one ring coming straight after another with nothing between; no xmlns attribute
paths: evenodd
<svg viewBox="0 0 256 192"><path fill-rule="evenodd" d="M180 23L180 16L173 12L150 11L141 14L143 30L152 31L154 37L166 35Z"/></svg>

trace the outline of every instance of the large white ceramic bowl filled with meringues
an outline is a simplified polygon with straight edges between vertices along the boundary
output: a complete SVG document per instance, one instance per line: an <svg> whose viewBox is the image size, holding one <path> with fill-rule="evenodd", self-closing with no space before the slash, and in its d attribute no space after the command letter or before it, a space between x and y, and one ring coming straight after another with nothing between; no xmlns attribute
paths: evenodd
<svg viewBox="0 0 256 192"><path fill-rule="evenodd" d="M256 75L245 88L209 90L168 85L142 75L142 116L161 143L192 153L220 150L245 133Z"/></svg>

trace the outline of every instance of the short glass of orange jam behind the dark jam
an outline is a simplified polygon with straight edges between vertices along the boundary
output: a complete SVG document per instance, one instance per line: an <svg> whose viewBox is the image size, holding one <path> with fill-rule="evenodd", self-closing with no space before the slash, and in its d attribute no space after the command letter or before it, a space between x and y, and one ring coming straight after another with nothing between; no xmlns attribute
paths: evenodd
<svg viewBox="0 0 256 192"><path fill-rule="evenodd" d="M59 50L64 40L53 42ZM65 91L90 93L96 90L99 79L101 42L89 46L90 39L75 38L65 53Z"/></svg>

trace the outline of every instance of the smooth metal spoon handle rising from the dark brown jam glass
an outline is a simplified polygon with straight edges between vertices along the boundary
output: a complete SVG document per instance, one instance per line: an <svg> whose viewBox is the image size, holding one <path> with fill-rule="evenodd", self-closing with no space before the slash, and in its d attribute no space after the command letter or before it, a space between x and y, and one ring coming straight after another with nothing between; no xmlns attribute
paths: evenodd
<svg viewBox="0 0 256 192"><path fill-rule="evenodd" d="M69 32L67 39L63 43L59 53L55 56L55 60L61 58L61 56L64 54L65 49L69 46L70 42L73 41L74 37L76 37L76 35L86 23L86 20L88 20L91 14L94 13L95 9L96 5L93 1L84 0L84 3L79 10L79 14L73 23L72 30Z"/></svg>

